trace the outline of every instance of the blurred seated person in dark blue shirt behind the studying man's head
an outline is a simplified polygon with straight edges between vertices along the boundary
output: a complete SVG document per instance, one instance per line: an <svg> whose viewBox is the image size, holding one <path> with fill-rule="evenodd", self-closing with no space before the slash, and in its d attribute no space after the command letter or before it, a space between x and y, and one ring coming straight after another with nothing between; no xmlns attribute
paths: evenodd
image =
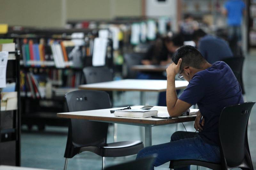
<svg viewBox="0 0 256 170"><path fill-rule="evenodd" d="M193 33L193 41L195 41L197 49L205 60L210 64L233 56L227 41L207 34L202 29Z"/></svg>

